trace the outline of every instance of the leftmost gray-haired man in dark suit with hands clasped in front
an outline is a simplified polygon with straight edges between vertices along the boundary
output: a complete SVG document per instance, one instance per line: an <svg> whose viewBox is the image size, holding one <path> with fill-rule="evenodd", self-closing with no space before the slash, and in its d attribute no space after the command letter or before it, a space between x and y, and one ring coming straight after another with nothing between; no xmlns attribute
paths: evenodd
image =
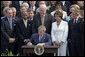
<svg viewBox="0 0 85 57"><path fill-rule="evenodd" d="M7 17L5 17L1 21L1 52L7 54L6 49L12 51L14 53L14 42L15 42L15 34L14 34L14 26L15 20L12 19L13 11L11 8L7 9Z"/></svg>

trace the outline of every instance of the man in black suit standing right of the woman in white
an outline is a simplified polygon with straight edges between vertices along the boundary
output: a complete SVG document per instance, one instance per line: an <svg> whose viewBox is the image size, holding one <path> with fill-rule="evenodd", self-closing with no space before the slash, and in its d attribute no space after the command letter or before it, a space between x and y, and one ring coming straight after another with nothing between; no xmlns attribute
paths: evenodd
<svg viewBox="0 0 85 57"><path fill-rule="evenodd" d="M70 56L81 56L81 18L79 18L77 10L73 13L73 18L69 21L68 45Z"/></svg>

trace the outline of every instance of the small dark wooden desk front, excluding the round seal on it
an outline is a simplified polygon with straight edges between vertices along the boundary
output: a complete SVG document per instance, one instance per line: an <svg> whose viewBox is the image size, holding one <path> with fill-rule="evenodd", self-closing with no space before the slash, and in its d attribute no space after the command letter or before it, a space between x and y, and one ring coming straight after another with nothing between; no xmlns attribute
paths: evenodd
<svg viewBox="0 0 85 57"><path fill-rule="evenodd" d="M22 46L24 56L26 56L26 54L29 55L29 53L34 53L34 47L35 46ZM44 53L56 53L57 56L58 48L57 46L44 46Z"/></svg>

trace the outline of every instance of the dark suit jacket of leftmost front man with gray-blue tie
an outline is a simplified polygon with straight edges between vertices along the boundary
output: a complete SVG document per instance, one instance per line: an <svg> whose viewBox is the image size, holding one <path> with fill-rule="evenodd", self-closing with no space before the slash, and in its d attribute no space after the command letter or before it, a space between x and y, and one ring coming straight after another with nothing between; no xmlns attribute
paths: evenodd
<svg viewBox="0 0 85 57"><path fill-rule="evenodd" d="M9 21L7 19L7 17L5 17L4 19L2 19L1 21L1 27L2 27L2 36L4 37L4 39L9 39L10 37L14 37L14 27L15 27L15 20L12 20L12 28L10 28L10 24Z"/></svg>

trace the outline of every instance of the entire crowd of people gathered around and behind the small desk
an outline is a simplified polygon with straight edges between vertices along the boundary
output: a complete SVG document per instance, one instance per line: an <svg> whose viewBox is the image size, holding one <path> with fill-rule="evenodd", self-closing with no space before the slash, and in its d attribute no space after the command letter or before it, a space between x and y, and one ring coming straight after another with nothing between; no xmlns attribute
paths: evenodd
<svg viewBox="0 0 85 57"><path fill-rule="evenodd" d="M23 45L56 45L58 56L66 56L68 52L69 56L84 56L84 6L69 6L70 2L67 2L70 8L67 13L61 1L52 2L49 10L46 1L38 1L38 8L35 7L36 1L29 1L30 6L26 1L18 10L7 6L10 1L3 1L1 53L7 54L8 49L22 56ZM54 5L55 10L52 9Z"/></svg>

